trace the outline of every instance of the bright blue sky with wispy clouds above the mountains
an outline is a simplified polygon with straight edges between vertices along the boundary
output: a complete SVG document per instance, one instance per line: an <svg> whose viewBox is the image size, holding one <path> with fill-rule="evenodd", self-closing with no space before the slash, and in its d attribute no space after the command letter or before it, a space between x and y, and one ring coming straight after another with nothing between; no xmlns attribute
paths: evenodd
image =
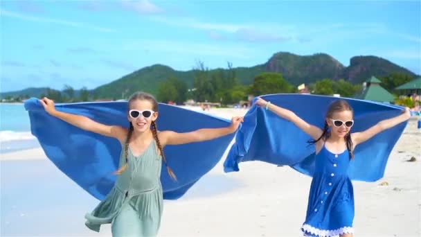
<svg viewBox="0 0 421 237"><path fill-rule="evenodd" d="M421 74L420 1L4 1L0 91L93 89L142 67L376 55Z"/></svg>

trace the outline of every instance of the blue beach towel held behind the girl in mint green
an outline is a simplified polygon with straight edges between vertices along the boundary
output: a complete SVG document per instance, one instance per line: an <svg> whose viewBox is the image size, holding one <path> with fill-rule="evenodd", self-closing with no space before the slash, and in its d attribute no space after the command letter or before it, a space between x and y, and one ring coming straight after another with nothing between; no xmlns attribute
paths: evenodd
<svg viewBox="0 0 421 237"><path fill-rule="evenodd" d="M114 186L120 157L120 143L110 137L87 132L47 114L36 98L24 104L32 134L48 159L64 174L95 198L102 200ZM62 103L57 110L80 114L107 125L128 128L127 102ZM220 128L231 121L181 107L159 104L158 129L190 132L199 128ZM180 198L220 161L234 134L211 141L164 148L168 166L177 175L175 182L165 168L161 173L163 198Z"/></svg>

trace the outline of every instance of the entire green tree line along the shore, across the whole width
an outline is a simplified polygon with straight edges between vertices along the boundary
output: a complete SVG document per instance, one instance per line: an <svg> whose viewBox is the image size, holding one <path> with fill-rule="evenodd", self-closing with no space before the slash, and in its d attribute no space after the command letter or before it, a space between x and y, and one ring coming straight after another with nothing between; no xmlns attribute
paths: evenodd
<svg viewBox="0 0 421 237"><path fill-rule="evenodd" d="M192 85L188 85L185 78L177 78L172 75L157 85L156 98L163 103L172 101L182 104L188 99L198 102L219 102L222 105L230 105L239 103L240 100L247 100L249 95L260 96L264 94L278 93L296 93L296 85L289 83L281 73L262 72L253 78L251 85L243 85L238 78L238 71L233 68L231 62L227 62L226 69L210 70L205 66L204 62L197 61L193 67ZM382 87L393 94L395 87L402 85L410 80L412 76L406 73L391 73L388 76L378 77L382 81ZM342 97L352 98L361 91L361 85L354 85L348 80L331 80L325 78L307 85L311 94L320 94L331 96L340 94ZM132 88L134 90L142 90L141 88ZM89 91L86 87L75 90L70 85L64 85L62 90L47 88L39 97L48 97L58 103L71 103L80 101L96 100L94 90ZM123 98L127 98L129 94L125 91L119 93ZM150 91L147 91L150 92ZM12 97L7 96L7 101L21 101L28 96Z"/></svg>

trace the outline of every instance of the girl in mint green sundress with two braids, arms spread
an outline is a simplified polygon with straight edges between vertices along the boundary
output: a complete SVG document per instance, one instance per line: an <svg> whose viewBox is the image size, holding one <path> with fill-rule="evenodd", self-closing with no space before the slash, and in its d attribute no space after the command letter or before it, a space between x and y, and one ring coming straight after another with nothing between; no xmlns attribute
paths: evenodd
<svg viewBox="0 0 421 237"><path fill-rule="evenodd" d="M116 170L116 183L105 200L85 216L87 227L93 231L99 231L102 224L111 223L113 236L158 234L163 210L160 179L163 163L170 176L176 179L165 160L163 148L166 145L216 139L235 132L243 121L242 117L233 117L231 125L226 128L204 128L183 133L159 132L155 123L158 118L158 103L152 95L136 92L128 101L127 129L118 125L101 124L85 116L57 111L53 100L48 98L39 101L48 114L58 119L82 130L114 137L120 141L122 152L120 168Z"/></svg>

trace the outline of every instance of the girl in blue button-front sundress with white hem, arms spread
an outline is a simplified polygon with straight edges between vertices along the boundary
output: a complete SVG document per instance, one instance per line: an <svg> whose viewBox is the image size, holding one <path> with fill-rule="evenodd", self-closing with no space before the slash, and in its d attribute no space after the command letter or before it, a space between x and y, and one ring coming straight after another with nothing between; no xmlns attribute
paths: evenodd
<svg viewBox="0 0 421 237"><path fill-rule="evenodd" d="M365 131L351 133L354 114L346 100L335 100L330 105L323 129L262 98L258 98L256 104L294 123L312 137L310 143L316 146L316 167L310 186L307 215L301 227L303 234L318 237L353 236L354 193L348 167L354 158L355 147L379 132L408 120L411 116L409 108L402 110L399 116L380 121Z"/></svg>

